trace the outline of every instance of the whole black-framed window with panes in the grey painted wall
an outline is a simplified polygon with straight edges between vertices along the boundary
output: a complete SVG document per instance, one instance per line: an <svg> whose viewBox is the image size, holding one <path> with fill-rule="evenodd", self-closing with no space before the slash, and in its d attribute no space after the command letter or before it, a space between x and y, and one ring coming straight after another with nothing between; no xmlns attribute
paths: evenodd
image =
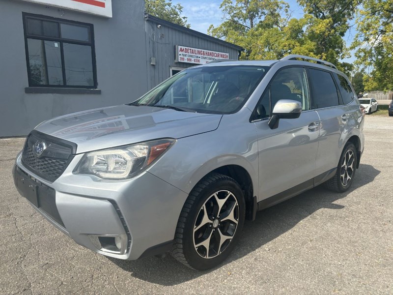
<svg viewBox="0 0 393 295"><path fill-rule="evenodd" d="M97 88L92 25L23 17L30 87Z"/></svg>

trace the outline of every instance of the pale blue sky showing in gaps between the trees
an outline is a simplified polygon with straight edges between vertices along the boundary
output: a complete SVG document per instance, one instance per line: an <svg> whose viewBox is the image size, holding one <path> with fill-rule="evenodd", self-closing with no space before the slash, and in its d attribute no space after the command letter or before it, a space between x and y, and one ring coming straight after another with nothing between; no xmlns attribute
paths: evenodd
<svg viewBox="0 0 393 295"><path fill-rule="evenodd" d="M210 25L218 26L222 23L221 2L222 0L172 0L172 3L180 3L184 7L183 15L187 16L187 21L191 24L191 29L202 33L207 33ZM286 2L289 3L290 9L293 11L293 17L302 17L303 9L298 5L296 0L286 0ZM351 44L354 35L355 29L351 29L346 33L344 40L347 45ZM351 57L344 60L346 62L353 62L355 59Z"/></svg>

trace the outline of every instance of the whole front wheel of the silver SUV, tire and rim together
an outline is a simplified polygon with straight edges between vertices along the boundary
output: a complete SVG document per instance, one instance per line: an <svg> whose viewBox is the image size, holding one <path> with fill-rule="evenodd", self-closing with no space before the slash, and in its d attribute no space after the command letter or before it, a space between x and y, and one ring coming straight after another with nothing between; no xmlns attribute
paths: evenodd
<svg viewBox="0 0 393 295"><path fill-rule="evenodd" d="M220 211L217 199L225 200ZM233 178L218 173L202 178L181 210L172 248L173 257L197 270L221 264L240 237L245 207L243 191Z"/></svg>

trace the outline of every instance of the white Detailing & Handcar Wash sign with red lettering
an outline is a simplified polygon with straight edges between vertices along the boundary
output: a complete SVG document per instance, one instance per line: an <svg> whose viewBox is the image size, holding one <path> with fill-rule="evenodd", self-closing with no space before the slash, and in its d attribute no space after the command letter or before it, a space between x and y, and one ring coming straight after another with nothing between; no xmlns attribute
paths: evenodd
<svg viewBox="0 0 393 295"><path fill-rule="evenodd" d="M205 64L216 59L229 59L229 54L225 52L176 45L175 62Z"/></svg>

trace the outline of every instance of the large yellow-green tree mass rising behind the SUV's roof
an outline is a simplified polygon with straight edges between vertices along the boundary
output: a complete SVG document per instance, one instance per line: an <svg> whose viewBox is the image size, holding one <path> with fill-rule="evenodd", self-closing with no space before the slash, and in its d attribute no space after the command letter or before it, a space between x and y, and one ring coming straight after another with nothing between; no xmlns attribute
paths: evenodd
<svg viewBox="0 0 393 295"><path fill-rule="evenodd" d="M301 54L337 64L349 74L353 65L340 63L349 57L343 36L359 0L298 0L305 15L291 17L282 0L224 0L223 23L208 33L242 46L241 59L280 59Z"/></svg>

